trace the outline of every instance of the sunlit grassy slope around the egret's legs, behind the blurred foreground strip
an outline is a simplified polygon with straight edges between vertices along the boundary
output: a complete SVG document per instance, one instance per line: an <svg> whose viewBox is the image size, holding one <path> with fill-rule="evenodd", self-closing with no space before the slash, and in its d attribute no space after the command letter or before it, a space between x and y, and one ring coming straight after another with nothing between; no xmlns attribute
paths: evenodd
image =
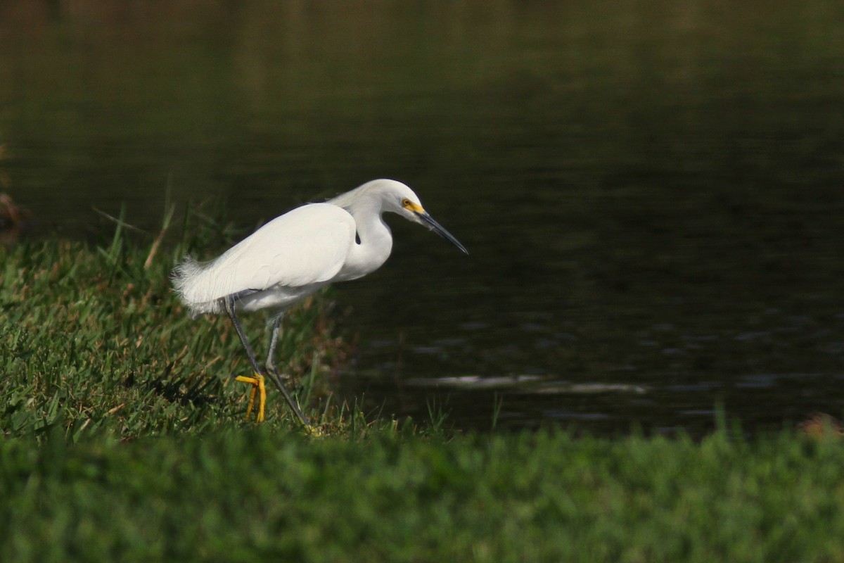
<svg viewBox="0 0 844 563"><path fill-rule="evenodd" d="M168 279L168 255L116 235L110 246L30 242L0 247L0 428L5 436L61 427L68 440L105 430L118 438L229 427L246 409L248 368L228 319L192 320ZM320 296L291 311L279 367L297 382L322 382L342 355ZM265 344L261 315L244 328ZM317 421L331 405L309 392ZM282 402L273 425L293 425Z"/></svg>

